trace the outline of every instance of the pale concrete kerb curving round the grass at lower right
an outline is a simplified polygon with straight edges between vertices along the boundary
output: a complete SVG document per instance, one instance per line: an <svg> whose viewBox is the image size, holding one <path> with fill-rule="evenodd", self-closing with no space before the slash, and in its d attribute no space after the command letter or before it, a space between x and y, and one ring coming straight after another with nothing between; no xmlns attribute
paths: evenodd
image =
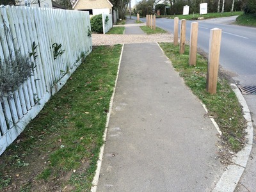
<svg viewBox="0 0 256 192"><path fill-rule="evenodd" d="M232 158L232 163L227 166L224 173L221 175L220 180L217 182L215 188L212 192L233 192L236 189L239 180L241 179L243 172L246 168L246 164L248 162L250 152L252 150L252 142L253 142L253 125L252 125L252 117L250 115L250 110L247 106L246 100L242 93L237 88L236 84L230 84L232 90L236 94L239 103L243 107L244 119L246 120L246 139L248 140L245 144L244 148L237 152L237 154Z"/></svg>

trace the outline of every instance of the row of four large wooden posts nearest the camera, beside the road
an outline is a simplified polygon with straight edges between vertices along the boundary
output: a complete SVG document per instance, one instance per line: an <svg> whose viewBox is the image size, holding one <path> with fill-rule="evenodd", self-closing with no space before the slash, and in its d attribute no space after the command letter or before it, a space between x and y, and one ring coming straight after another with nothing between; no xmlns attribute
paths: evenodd
<svg viewBox="0 0 256 192"><path fill-rule="evenodd" d="M173 44L178 45L178 27L179 18L174 18L174 34ZM198 38L198 22L191 23L190 46L189 46L189 65L196 65L197 54L197 38ZM184 54L186 44L186 19L180 20L180 54ZM220 60L220 44L221 44L221 29L214 28L210 32L209 55L206 90L209 93L216 93L218 81L218 68Z"/></svg>

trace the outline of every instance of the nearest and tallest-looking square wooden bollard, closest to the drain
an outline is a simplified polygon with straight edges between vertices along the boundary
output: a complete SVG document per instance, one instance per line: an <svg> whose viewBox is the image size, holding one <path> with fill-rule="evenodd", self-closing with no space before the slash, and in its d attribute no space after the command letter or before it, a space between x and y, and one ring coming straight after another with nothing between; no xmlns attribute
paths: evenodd
<svg viewBox="0 0 256 192"><path fill-rule="evenodd" d="M220 60L221 29L211 29L208 55L206 90L216 93Z"/></svg>

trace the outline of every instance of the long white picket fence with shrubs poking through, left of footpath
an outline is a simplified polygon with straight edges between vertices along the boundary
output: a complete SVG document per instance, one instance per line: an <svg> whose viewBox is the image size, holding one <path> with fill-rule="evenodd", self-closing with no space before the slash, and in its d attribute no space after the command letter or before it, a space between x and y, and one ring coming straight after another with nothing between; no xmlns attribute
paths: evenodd
<svg viewBox="0 0 256 192"><path fill-rule="evenodd" d="M110 19L111 20L111 19ZM92 51L88 12L5 6L0 8L0 58L19 50L29 55L33 42L38 47L36 68L12 98L0 102L0 155L28 122L35 118L51 95L66 83L80 62L81 52ZM65 52L54 60L52 44ZM13 54L12 54L13 55ZM4 64L3 64L4 65ZM1 70L1 66L0 66Z"/></svg>

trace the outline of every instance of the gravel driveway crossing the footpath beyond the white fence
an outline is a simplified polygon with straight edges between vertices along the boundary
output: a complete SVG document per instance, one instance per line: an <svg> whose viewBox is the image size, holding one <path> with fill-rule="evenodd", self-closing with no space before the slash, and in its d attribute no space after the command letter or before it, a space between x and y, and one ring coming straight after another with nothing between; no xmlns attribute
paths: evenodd
<svg viewBox="0 0 256 192"><path fill-rule="evenodd" d="M108 35L92 34L92 44L95 45L115 45L115 44L137 44L151 42L173 42L171 33L154 35Z"/></svg>

